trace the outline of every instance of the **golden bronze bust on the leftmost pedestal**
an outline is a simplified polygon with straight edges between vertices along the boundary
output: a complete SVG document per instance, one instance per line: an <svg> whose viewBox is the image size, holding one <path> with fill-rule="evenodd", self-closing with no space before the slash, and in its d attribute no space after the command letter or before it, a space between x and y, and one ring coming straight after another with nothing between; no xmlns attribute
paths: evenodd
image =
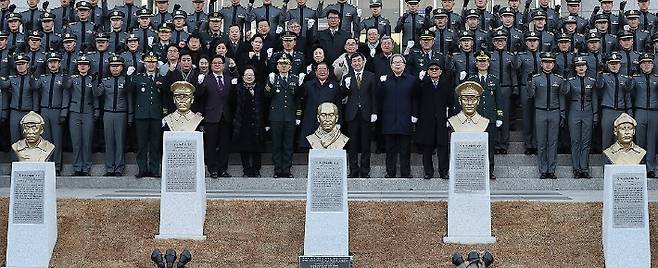
<svg viewBox="0 0 658 268"><path fill-rule="evenodd" d="M30 111L21 119L23 139L11 145L20 162L46 162L55 150L55 145L43 139L43 118Z"/></svg>

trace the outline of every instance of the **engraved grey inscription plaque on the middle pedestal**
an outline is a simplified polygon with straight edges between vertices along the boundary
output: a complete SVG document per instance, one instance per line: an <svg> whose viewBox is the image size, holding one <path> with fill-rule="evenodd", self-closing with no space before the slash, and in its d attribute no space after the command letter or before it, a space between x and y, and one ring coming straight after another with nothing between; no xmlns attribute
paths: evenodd
<svg viewBox="0 0 658 268"><path fill-rule="evenodd" d="M311 212L343 212L343 165L340 158L314 158L309 163Z"/></svg>

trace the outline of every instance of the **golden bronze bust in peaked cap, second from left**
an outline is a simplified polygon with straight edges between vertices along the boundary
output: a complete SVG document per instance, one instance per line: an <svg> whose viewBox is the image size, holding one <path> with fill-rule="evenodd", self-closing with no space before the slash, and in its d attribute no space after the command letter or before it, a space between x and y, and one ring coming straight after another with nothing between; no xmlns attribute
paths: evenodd
<svg viewBox="0 0 658 268"><path fill-rule="evenodd" d="M203 120L201 114L191 110L194 103L194 90L194 86L186 81L178 81L171 85L176 111L163 119L169 130L195 131Z"/></svg>

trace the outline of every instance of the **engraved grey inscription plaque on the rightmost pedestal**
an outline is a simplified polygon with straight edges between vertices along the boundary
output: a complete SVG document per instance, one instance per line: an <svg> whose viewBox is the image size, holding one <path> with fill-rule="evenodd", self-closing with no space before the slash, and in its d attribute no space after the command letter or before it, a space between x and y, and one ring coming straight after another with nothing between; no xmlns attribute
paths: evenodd
<svg viewBox="0 0 658 268"><path fill-rule="evenodd" d="M644 228L642 179L637 174L617 174L612 195L612 228Z"/></svg>

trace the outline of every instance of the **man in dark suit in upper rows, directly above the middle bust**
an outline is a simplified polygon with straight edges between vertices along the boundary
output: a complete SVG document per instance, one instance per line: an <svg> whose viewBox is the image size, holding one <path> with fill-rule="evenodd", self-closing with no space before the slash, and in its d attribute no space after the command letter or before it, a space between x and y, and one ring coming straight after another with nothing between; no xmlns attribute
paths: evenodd
<svg viewBox="0 0 658 268"><path fill-rule="evenodd" d="M337 10L330 9L327 12L327 23L329 28L317 32L317 35L312 37L311 40L315 40L319 46L327 51L325 61L331 64L343 53L345 42L351 35L339 28L340 13Z"/></svg>

